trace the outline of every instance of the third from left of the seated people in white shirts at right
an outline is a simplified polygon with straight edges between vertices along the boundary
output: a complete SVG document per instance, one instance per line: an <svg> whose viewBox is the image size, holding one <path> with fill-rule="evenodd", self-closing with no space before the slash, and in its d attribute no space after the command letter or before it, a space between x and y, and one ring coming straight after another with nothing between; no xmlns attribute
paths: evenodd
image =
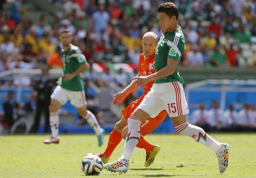
<svg viewBox="0 0 256 178"><path fill-rule="evenodd" d="M223 131L235 131L236 130L236 121L237 121L237 112L234 110L234 106L231 104L229 108L223 113L222 121L222 130Z"/></svg>

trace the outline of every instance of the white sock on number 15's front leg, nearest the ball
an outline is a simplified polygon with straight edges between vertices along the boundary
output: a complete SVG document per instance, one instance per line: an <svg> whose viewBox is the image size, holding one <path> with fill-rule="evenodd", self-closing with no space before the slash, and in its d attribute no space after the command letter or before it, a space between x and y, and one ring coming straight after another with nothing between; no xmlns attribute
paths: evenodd
<svg viewBox="0 0 256 178"><path fill-rule="evenodd" d="M124 153L120 159L129 160L134 148L140 140L140 120L134 116L130 116L127 120L128 134L125 139Z"/></svg>

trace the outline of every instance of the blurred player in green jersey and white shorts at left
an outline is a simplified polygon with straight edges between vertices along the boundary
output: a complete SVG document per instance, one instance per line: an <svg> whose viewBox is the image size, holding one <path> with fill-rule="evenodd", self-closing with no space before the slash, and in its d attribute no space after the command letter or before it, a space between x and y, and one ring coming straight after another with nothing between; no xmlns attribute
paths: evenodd
<svg viewBox="0 0 256 178"><path fill-rule="evenodd" d="M61 61L63 75L58 80L58 86L51 95L50 125L52 136L44 140L44 143L59 143L59 115L58 109L65 104L68 99L71 104L76 106L79 115L86 119L89 125L92 126L98 137L98 146L101 146L104 138L104 129L100 128L95 116L87 110L84 84L80 77L80 73L89 68L85 56L81 50L71 44L73 37L69 30L64 30L60 33L60 42L63 45L61 50Z"/></svg>

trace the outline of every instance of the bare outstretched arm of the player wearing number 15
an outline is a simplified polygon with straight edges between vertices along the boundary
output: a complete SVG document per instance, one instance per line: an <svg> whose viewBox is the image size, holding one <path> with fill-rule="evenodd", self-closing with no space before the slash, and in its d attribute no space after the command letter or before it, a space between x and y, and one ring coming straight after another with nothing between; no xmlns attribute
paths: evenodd
<svg viewBox="0 0 256 178"><path fill-rule="evenodd" d="M131 80L134 81L135 86L145 85L146 83L156 80L159 78L166 77L168 75L172 75L177 68L178 61L168 58L167 59L167 66L159 70L158 72L148 75L148 76L140 76L140 77L133 77Z"/></svg>

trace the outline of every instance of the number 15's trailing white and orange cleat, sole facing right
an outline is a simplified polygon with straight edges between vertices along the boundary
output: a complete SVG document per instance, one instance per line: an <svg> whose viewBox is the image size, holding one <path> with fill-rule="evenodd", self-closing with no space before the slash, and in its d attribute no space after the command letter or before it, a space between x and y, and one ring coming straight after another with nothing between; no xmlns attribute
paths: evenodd
<svg viewBox="0 0 256 178"><path fill-rule="evenodd" d="M220 173L224 173L228 167L228 153L230 150L230 146L227 143L221 143L221 147L224 147L224 150L220 153L216 153L217 158L219 160L219 170Z"/></svg>

